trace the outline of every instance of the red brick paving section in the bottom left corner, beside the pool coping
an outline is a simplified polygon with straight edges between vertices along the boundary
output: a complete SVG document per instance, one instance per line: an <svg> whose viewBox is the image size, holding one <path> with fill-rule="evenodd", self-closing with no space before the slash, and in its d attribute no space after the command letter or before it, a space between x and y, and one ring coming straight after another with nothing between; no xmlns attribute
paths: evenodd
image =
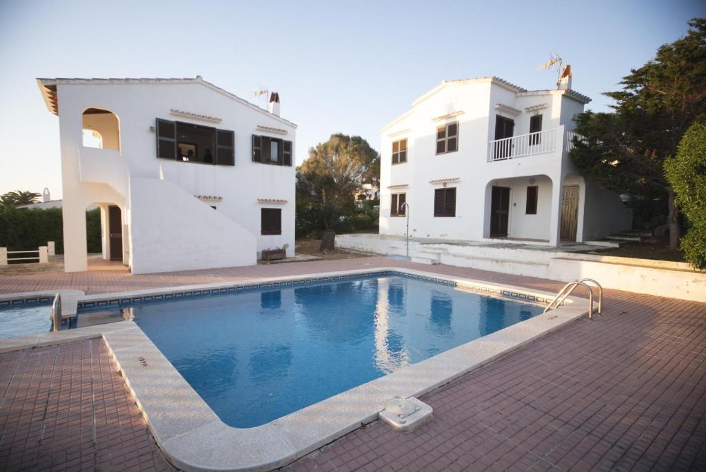
<svg viewBox="0 0 706 472"><path fill-rule="evenodd" d="M174 470L100 339L0 354L0 470Z"/></svg>

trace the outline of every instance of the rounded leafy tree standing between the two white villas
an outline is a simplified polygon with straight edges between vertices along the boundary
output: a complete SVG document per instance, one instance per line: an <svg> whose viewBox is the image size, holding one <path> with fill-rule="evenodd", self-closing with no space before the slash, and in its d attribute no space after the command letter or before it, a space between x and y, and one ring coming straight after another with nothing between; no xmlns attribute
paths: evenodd
<svg viewBox="0 0 706 472"><path fill-rule="evenodd" d="M297 229L336 229L356 211L363 183L378 185L380 157L360 136L331 135L309 149L297 172ZM309 231L307 231L307 229Z"/></svg>

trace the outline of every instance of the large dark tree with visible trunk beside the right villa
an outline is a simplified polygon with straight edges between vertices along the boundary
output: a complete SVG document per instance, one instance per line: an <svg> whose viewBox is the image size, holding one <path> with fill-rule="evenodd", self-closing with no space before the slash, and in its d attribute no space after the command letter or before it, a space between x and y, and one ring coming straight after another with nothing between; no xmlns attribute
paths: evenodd
<svg viewBox="0 0 706 472"><path fill-rule="evenodd" d="M654 59L623 78L613 113L587 111L578 116L571 155L576 166L604 186L645 198L669 199L670 246L679 238L674 190L664 176L664 161L698 116L706 113L706 19L689 22L688 34L657 49Z"/></svg>

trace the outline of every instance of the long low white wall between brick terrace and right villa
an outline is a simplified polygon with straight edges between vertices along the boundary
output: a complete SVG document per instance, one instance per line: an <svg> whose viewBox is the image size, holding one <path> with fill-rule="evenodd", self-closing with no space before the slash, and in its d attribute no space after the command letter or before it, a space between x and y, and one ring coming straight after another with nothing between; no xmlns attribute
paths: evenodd
<svg viewBox="0 0 706 472"><path fill-rule="evenodd" d="M341 234L340 248L385 255L405 255L405 240L376 234ZM472 267L505 274L571 282L596 279L606 289L706 302L706 272L683 262L575 254L556 250L497 248L487 243L409 241L411 257L435 258L442 264Z"/></svg>

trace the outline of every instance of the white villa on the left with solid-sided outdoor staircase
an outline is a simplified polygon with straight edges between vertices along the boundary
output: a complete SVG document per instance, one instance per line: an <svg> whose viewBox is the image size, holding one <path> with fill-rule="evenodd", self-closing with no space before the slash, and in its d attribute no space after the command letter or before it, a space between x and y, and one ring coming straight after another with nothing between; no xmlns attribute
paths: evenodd
<svg viewBox="0 0 706 472"><path fill-rule="evenodd" d="M133 274L294 255L297 125L196 78L40 78L59 116L66 272L87 270L85 210L102 257Z"/></svg>

